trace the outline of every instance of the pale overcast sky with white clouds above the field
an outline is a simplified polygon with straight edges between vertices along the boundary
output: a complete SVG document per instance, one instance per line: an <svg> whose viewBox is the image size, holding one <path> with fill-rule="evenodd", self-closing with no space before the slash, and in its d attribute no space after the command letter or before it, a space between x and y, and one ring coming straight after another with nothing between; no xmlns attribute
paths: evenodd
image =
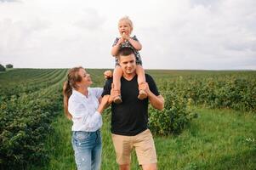
<svg viewBox="0 0 256 170"><path fill-rule="evenodd" d="M256 70L255 0L0 0L0 64L113 68L124 15L145 69Z"/></svg>

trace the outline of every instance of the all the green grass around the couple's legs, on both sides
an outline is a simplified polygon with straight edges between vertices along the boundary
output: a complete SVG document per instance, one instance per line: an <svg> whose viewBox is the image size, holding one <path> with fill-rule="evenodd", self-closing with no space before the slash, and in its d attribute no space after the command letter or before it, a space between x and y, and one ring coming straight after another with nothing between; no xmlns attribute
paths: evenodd
<svg viewBox="0 0 256 170"><path fill-rule="evenodd" d="M229 110L194 108L199 117L179 136L154 137L158 169L234 169L256 167L256 115ZM30 169L76 169L71 148L71 122L63 115L53 123L55 133L46 146L50 161ZM101 169L117 169L111 143L110 116L105 113L102 127L103 154ZM132 168L139 169L136 156Z"/></svg>

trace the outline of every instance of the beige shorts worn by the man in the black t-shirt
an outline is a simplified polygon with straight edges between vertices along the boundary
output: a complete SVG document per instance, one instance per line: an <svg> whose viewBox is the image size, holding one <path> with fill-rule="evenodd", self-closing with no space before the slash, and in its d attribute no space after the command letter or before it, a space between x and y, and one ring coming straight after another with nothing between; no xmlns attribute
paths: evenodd
<svg viewBox="0 0 256 170"><path fill-rule="evenodd" d="M131 152L135 148L139 165L156 163L156 148L151 131L146 129L135 136L111 134L119 165L130 164Z"/></svg>

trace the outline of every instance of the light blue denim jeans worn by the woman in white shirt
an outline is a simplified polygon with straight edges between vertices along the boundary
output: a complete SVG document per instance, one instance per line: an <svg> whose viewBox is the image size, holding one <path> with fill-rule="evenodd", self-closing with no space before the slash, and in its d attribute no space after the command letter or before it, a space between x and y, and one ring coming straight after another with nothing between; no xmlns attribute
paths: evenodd
<svg viewBox="0 0 256 170"><path fill-rule="evenodd" d="M77 170L99 170L101 161L100 129L96 132L72 132Z"/></svg>

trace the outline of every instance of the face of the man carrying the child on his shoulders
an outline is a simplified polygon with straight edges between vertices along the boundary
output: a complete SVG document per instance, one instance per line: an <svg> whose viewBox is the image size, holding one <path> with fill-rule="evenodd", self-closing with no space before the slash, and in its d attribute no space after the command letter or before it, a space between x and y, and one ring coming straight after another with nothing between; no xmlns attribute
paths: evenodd
<svg viewBox="0 0 256 170"><path fill-rule="evenodd" d="M135 55L130 54L128 56L119 57L119 65L122 67L123 73L133 74L136 70Z"/></svg>

